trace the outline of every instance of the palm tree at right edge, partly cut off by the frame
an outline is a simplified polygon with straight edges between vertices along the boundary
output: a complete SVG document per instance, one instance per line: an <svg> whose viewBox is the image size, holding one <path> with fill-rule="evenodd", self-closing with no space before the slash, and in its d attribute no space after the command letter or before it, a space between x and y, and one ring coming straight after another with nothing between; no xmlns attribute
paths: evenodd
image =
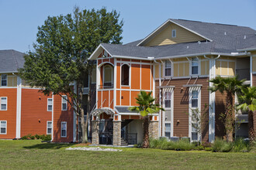
<svg viewBox="0 0 256 170"><path fill-rule="evenodd" d="M256 87L247 87L241 90L239 96L240 104L237 109L248 111L248 126L250 142L255 139L254 111L256 110Z"/></svg>

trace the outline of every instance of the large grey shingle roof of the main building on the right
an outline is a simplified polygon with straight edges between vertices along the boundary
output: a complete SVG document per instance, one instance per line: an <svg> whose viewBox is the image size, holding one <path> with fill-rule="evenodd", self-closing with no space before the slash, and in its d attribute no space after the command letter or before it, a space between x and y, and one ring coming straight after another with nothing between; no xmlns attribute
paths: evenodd
<svg viewBox="0 0 256 170"><path fill-rule="evenodd" d="M141 58L182 56L199 53L238 53L237 49L256 47L256 30L246 26L233 26L184 19L169 19L180 26L196 32L212 41L186 42L165 46L137 46L143 39L126 45L105 44L112 56L135 56Z"/></svg>

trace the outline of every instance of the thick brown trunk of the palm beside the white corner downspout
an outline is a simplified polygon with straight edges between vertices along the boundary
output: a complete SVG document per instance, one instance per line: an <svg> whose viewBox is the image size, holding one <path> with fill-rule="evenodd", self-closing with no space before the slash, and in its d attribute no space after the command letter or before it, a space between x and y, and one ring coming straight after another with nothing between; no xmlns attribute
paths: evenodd
<svg viewBox="0 0 256 170"><path fill-rule="evenodd" d="M233 95L232 93L227 93L226 97L226 119L225 119L225 129L227 133L227 141L233 141L234 133L234 111L233 111Z"/></svg>

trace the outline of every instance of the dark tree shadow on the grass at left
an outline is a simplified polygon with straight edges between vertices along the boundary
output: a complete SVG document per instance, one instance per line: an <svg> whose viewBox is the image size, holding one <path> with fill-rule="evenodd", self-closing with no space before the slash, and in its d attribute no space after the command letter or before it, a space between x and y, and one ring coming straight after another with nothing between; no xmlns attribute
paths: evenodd
<svg viewBox="0 0 256 170"><path fill-rule="evenodd" d="M73 145L77 145L75 143L72 144L56 144L56 143L42 143L42 144L36 144L31 146L24 146L23 148L31 149L31 148L37 148L37 149L60 149L60 148L66 148L71 147Z"/></svg>

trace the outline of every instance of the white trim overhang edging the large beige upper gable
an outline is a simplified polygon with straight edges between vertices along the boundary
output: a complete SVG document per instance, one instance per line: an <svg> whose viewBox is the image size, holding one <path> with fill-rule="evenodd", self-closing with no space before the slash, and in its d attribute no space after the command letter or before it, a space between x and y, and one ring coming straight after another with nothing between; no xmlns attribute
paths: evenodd
<svg viewBox="0 0 256 170"><path fill-rule="evenodd" d="M178 24L177 22L174 22L174 21L172 21L171 19L168 19L168 20L167 20L166 22L164 22L161 26L159 26L157 29L155 29L153 32L151 32L145 39L143 39L142 41L140 41L140 42L137 44L137 46L140 46L140 45L143 44L144 42L147 42L148 39L153 38L154 36L156 36L157 33L160 32L161 30L163 30L165 27L167 27L169 23L173 23L173 24L175 24L175 25L177 25L177 26L180 26L180 27L182 27L183 29L186 29L186 30L188 30L189 32L194 33L194 34L197 35L197 36L201 36L203 39L206 39L206 40L208 40L208 41L213 41L212 39L209 39L209 38L207 38L206 36L202 36L202 35L199 34L198 32L195 32L195 31L193 31L193 30L191 30L191 29L188 29L188 28L186 28L185 26L182 26L182 25Z"/></svg>

